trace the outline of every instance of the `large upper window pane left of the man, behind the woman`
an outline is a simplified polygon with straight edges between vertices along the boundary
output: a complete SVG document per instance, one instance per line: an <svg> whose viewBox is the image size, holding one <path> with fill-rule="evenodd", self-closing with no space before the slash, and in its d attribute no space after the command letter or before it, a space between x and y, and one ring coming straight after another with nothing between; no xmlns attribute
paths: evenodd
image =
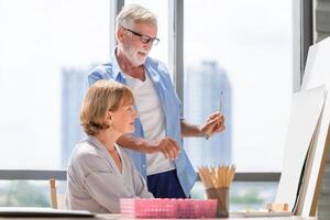
<svg viewBox="0 0 330 220"><path fill-rule="evenodd" d="M1 168L66 167L86 74L109 57L109 0L0 0Z"/></svg>

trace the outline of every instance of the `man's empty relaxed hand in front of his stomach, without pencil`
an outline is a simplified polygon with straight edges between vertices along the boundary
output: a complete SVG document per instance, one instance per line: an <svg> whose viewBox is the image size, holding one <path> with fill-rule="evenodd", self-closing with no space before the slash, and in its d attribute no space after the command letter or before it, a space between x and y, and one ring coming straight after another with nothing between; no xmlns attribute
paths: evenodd
<svg viewBox="0 0 330 220"><path fill-rule="evenodd" d="M160 141L151 141L147 143L147 146L144 148L145 153L152 154L155 152L162 152L165 158L175 160L177 158L180 147L170 138L164 138Z"/></svg>

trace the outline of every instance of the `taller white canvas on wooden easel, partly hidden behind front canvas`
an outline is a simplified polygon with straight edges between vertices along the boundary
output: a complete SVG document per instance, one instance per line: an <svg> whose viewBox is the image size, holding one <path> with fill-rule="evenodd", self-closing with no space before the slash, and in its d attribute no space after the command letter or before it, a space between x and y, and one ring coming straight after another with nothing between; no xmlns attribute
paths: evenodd
<svg viewBox="0 0 330 220"><path fill-rule="evenodd" d="M311 46L308 53L301 90L326 85L327 100L319 120L316 136L311 142L301 188L297 200L298 216L316 216L321 183L326 172L327 156L330 145L330 37Z"/></svg>

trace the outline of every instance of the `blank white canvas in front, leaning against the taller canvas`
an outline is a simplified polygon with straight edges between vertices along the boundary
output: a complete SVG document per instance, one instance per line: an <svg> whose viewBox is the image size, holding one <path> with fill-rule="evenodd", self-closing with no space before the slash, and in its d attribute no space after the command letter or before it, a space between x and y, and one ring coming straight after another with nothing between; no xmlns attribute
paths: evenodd
<svg viewBox="0 0 330 220"><path fill-rule="evenodd" d="M284 163L275 202L293 209L304 161L316 130L323 103L324 87L296 92L286 133Z"/></svg>

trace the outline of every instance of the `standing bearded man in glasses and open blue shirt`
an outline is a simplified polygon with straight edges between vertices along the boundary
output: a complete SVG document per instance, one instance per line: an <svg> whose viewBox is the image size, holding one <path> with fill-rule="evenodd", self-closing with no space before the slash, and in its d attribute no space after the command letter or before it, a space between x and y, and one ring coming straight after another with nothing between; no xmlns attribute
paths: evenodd
<svg viewBox="0 0 330 220"><path fill-rule="evenodd" d="M223 116L216 112L200 127L183 119L167 68L148 57L160 42L154 13L138 4L125 6L117 18L116 36L111 62L96 67L88 82L116 80L133 90L139 112L135 132L118 143L128 150L155 197L189 197L196 173L182 148L182 136L208 139L224 130Z"/></svg>

